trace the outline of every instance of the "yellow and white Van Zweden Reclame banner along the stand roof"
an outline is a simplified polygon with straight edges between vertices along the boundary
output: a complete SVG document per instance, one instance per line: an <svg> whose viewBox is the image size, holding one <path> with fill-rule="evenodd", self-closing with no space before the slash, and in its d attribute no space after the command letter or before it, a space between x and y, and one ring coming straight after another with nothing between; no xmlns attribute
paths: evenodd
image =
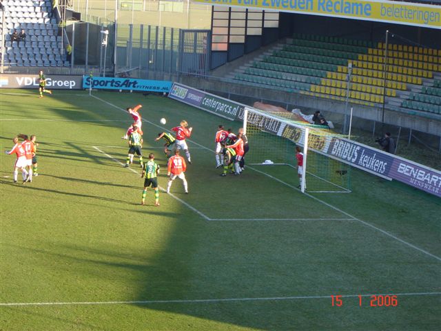
<svg viewBox="0 0 441 331"><path fill-rule="evenodd" d="M402 1L365 0L194 0L213 6L296 12L441 29L441 7Z"/></svg>

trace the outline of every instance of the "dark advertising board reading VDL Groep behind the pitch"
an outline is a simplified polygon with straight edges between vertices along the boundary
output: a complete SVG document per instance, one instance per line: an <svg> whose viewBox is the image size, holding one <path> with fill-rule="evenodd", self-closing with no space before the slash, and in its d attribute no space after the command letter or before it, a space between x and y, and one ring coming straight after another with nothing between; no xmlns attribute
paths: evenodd
<svg viewBox="0 0 441 331"><path fill-rule="evenodd" d="M48 90L81 90L82 76L46 74ZM0 74L0 88L39 88L38 74Z"/></svg>

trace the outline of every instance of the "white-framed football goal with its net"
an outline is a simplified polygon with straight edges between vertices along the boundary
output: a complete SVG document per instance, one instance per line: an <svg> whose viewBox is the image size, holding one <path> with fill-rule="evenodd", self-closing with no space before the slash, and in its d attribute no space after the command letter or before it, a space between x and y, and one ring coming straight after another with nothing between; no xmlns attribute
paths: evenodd
<svg viewBox="0 0 441 331"><path fill-rule="evenodd" d="M256 166L283 166L271 170L274 174L286 172L289 183L302 192L351 192L351 167L329 157L327 148L334 137L330 130L307 122L293 121L274 112L245 108L243 128L249 141L246 163ZM298 178L296 146L303 154L301 178Z"/></svg>

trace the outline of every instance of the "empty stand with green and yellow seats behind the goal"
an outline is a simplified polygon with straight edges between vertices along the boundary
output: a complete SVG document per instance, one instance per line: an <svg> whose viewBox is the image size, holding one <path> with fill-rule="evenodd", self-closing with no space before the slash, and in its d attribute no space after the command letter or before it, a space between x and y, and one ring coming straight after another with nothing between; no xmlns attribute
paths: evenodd
<svg viewBox="0 0 441 331"><path fill-rule="evenodd" d="M426 88L439 72L441 50L389 43L386 54L384 43L294 34L234 79L340 101L349 92L351 103L366 106L399 100L401 108L440 114L436 86ZM409 94L421 88L422 93Z"/></svg>

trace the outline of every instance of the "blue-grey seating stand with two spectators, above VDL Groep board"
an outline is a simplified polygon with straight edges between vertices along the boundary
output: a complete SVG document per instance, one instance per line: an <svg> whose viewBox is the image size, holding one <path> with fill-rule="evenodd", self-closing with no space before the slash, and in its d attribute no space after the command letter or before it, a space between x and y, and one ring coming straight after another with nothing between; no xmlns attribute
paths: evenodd
<svg viewBox="0 0 441 331"><path fill-rule="evenodd" d="M63 66L63 44L50 0L3 1L5 66ZM14 30L25 30L25 41L11 41Z"/></svg>

